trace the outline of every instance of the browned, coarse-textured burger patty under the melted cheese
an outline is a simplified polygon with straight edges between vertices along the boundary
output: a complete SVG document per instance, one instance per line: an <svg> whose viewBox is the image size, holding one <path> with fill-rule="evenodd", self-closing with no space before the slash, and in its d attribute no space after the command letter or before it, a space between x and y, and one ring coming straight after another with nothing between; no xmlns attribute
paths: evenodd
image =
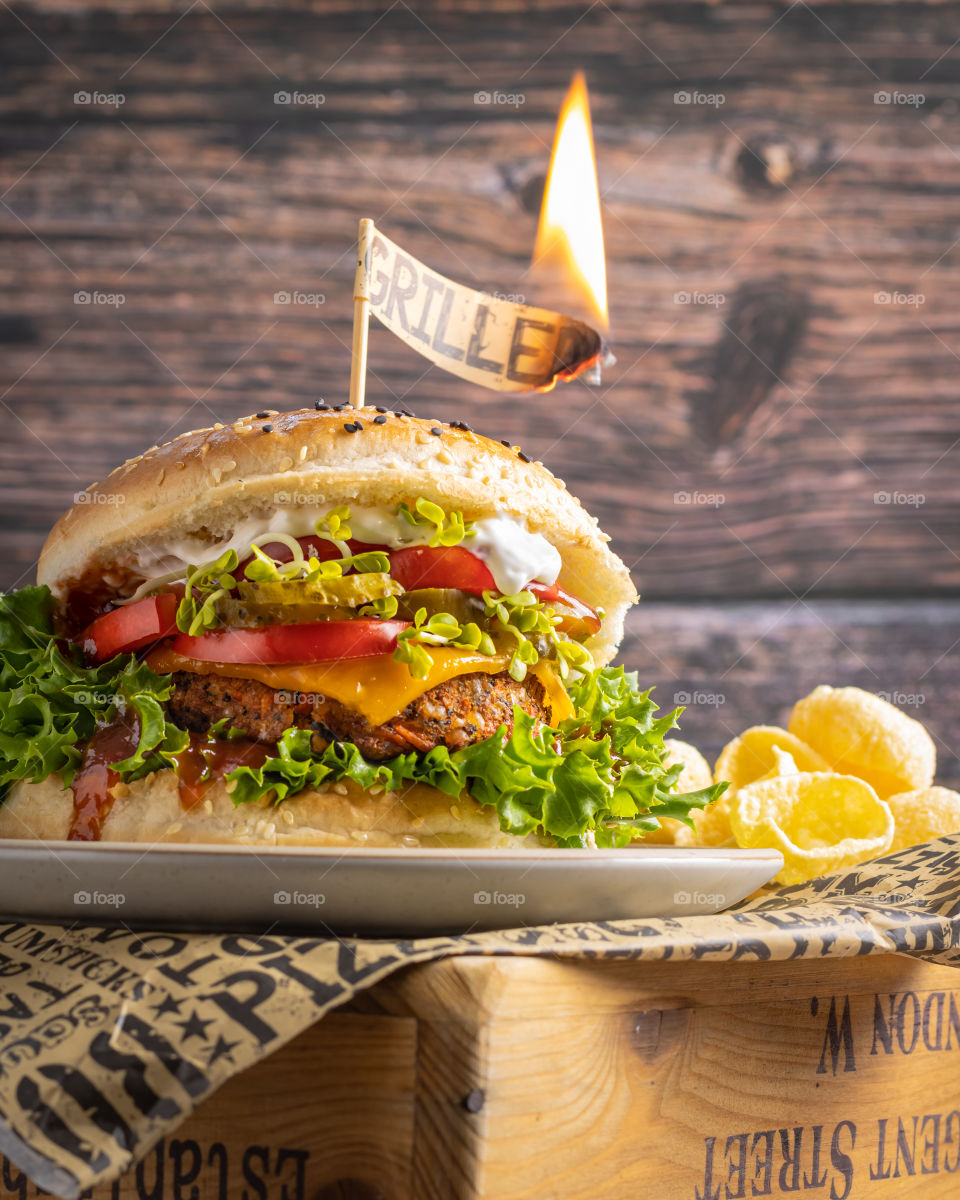
<svg viewBox="0 0 960 1200"><path fill-rule="evenodd" d="M486 742L500 725L514 727L514 706L540 721L550 708L542 684L528 674L517 683L500 674L474 672L448 679L425 691L385 725L371 725L360 713L336 700L314 694L277 691L253 679L217 674L173 674L174 691L167 708L181 728L205 733L227 719L258 742L277 742L292 725L314 730L329 739L353 742L367 758L392 758L409 750L445 745L461 750Z"/></svg>

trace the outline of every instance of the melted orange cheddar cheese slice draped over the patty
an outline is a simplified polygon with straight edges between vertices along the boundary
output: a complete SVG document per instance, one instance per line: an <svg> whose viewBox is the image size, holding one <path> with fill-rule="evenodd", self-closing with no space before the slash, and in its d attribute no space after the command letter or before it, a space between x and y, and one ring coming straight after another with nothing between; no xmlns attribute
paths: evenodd
<svg viewBox="0 0 960 1200"><path fill-rule="evenodd" d="M175 654L168 647L160 647L148 654L146 665L160 674L188 671L230 679L254 679L280 691L318 692L360 713L371 725L385 725L431 688L475 671L499 674L509 662L505 654L473 654L445 647L425 649L431 660L425 679L415 679L406 662L397 662L391 654L302 666L262 666L254 662L202 662L199 659ZM538 662L530 667L530 673L544 686L551 708L551 722L556 725L571 716L574 706L553 666Z"/></svg>

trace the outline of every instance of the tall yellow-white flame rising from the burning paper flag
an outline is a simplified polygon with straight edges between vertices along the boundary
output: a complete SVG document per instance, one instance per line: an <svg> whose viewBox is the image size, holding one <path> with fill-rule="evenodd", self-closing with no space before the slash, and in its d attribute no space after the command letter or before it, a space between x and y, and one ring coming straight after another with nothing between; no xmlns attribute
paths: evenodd
<svg viewBox="0 0 960 1200"><path fill-rule="evenodd" d="M590 314L608 326L600 187L582 71L574 76L557 121L533 263L560 271Z"/></svg>

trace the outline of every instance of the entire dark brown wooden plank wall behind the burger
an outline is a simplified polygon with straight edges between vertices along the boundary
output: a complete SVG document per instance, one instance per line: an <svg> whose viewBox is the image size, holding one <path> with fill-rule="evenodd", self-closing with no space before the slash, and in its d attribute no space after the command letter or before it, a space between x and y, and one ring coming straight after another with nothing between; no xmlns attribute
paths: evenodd
<svg viewBox="0 0 960 1200"><path fill-rule="evenodd" d="M499 400L374 329L370 398L466 419L569 481L647 600L625 660L666 700L725 696L691 706L708 748L857 682L924 695L960 776L958 17L0 6L0 584L144 445L346 397L360 215L463 282L548 304L527 265L582 67L616 367ZM77 100L95 92L122 103ZM323 301L275 299L293 292Z"/></svg>

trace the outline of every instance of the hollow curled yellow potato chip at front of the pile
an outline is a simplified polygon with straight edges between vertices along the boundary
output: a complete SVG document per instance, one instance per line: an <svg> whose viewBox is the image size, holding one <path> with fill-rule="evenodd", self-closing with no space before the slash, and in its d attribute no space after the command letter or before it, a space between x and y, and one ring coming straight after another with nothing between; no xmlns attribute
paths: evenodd
<svg viewBox="0 0 960 1200"><path fill-rule="evenodd" d="M893 814L874 788L852 775L799 772L748 784L731 804L737 845L779 850L779 883L817 875L883 854L893 841Z"/></svg>

